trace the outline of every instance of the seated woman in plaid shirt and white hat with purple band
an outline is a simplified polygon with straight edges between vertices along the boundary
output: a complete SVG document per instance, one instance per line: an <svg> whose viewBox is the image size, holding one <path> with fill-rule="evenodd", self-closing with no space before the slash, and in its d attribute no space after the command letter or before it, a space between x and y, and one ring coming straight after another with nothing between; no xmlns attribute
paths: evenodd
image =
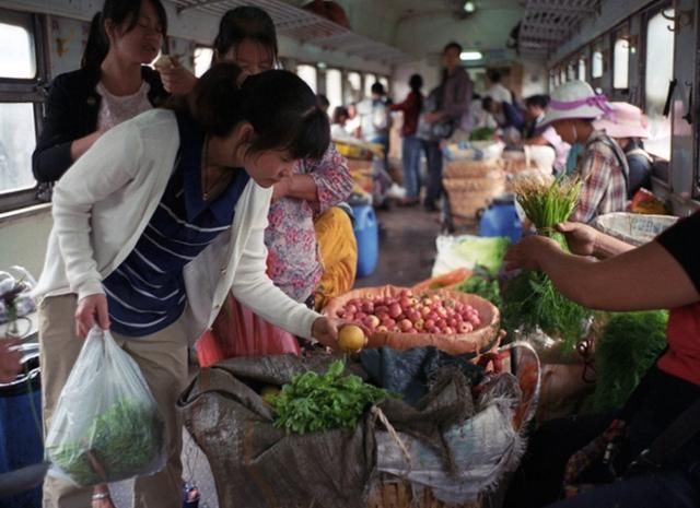
<svg viewBox="0 0 700 508"><path fill-rule="evenodd" d="M561 139L584 145L578 172L583 180L581 197L571 221L588 223L597 215L621 212L627 206L629 169L620 146L594 120L611 113L604 95L584 81L570 81L551 94L540 127L551 125Z"/></svg>

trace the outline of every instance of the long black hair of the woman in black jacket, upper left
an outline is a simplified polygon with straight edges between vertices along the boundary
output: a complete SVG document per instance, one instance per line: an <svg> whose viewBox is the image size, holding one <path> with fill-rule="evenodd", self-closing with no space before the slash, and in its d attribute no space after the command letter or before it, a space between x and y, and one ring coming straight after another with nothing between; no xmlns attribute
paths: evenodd
<svg viewBox="0 0 700 508"><path fill-rule="evenodd" d="M151 2L155 15L161 24L163 39L167 36L167 14L161 0L105 0L102 11L97 12L90 22L90 33L80 67L83 69L100 69L109 52L109 39L105 32L105 21L109 20L115 26L126 26L126 32L132 31L139 23L139 14L143 2Z"/></svg>

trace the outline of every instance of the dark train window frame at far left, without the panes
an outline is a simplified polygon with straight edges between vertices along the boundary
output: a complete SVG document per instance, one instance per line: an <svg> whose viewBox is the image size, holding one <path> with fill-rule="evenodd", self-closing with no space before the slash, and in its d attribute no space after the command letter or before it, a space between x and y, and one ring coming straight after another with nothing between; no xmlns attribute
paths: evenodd
<svg viewBox="0 0 700 508"><path fill-rule="evenodd" d="M34 119L34 140L42 129L44 103L46 102L48 61L46 39L46 15L0 9L0 23L22 26L30 34L35 59L33 78L0 76L0 103L32 104ZM26 168L27 172L32 167ZM38 184L16 190L0 189L0 214L14 212L44 202L37 198Z"/></svg>

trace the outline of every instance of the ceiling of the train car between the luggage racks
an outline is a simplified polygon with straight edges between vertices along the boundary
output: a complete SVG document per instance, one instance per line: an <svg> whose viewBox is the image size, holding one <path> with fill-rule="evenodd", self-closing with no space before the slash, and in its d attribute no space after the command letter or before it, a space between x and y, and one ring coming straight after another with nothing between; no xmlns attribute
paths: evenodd
<svg viewBox="0 0 700 508"><path fill-rule="evenodd" d="M585 16L598 12L600 3L600 0L336 0L348 14L353 28L349 31L299 9L308 0L172 1L178 10L197 9L217 15L237 5L258 4L272 15L282 35L388 64L434 56L448 40L482 51L487 63L521 55L545 60Z"/></svg>

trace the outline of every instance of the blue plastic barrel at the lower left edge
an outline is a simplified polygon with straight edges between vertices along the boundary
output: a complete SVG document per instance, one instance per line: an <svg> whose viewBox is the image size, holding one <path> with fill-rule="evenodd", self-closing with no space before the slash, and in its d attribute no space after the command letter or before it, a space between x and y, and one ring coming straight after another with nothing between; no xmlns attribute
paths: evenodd
<svg viewBox="0 0 700 508"><path fill-rule="evenodd" d="M24 363L25 373L0 385L0 474L42 462L42 383L38 355ZM0 498L0 508L40 508L42 486Z"/></svg>

